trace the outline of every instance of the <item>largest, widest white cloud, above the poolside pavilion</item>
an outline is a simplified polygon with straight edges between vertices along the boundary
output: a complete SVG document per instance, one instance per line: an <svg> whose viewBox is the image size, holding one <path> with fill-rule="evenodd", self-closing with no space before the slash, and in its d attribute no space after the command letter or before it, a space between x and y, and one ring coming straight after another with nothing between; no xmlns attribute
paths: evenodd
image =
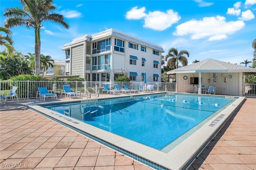
<svg viewBox="0 0 256 170"><path fill-rule="evenodd" d="M227 22L225 17L205 17L203 20L190 20L176 27L173 35L191 35L191 39L209 37L208 41L225 39L228 35L242 29L243 21Z"/></svg>

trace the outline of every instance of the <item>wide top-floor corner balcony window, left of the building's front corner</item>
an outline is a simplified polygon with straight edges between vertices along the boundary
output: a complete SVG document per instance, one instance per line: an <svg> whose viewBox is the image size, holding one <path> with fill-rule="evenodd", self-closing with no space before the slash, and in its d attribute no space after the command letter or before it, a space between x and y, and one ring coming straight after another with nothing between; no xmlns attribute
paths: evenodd
<svg viewBox="0 0 256 170"><path fill-rule="evenodd" d="M92 43L92 54L110 51L111 38Z"/></svg>

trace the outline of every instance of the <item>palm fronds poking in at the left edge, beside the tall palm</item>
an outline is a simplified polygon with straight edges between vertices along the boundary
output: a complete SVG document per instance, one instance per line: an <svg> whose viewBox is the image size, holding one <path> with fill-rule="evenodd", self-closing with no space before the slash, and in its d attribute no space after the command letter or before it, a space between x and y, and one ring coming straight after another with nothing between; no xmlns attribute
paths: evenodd
<svg viewBox="0 0 256 170"><path fill-rule="evenodd" d="M14 47L12 46L13 45L12 31L2 26L0 27L0 31L6 34L6 36L4 36L0 33L0 45L3 45L7 49L8 55L10 55L14 51Z"/></svg>

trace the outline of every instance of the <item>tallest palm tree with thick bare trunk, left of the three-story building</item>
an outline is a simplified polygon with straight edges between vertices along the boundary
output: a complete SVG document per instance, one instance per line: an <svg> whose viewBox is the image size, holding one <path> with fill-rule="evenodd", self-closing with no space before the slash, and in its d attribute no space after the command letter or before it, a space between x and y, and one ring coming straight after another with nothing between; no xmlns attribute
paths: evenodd
<svg viewBox="0 0 256 170"><path fill-rule="evenodd" d="M69 28L68 23L64 21L64 16L57 13L50 13L56 7L52 4L52 0L20 0L23 9L6 8L4 16L6 21L4 26L8 28L26 26L33 27L35 30L35 68L36 75L40 74L40 29L43 21L53 21L59 23L65 28Z"/></svg>

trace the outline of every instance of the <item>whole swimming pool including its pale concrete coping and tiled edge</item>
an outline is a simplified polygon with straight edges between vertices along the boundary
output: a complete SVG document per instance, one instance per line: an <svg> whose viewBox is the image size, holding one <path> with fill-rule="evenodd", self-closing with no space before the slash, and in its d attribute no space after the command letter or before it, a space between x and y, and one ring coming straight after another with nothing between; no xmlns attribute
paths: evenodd
<svg viewBox="0 0 256 170"><path fill-rule="evenodd" d="M42 104L45 110L41 110L152 168L186 169L239 105L238 99L164 93L61 106Z"/></svg>

